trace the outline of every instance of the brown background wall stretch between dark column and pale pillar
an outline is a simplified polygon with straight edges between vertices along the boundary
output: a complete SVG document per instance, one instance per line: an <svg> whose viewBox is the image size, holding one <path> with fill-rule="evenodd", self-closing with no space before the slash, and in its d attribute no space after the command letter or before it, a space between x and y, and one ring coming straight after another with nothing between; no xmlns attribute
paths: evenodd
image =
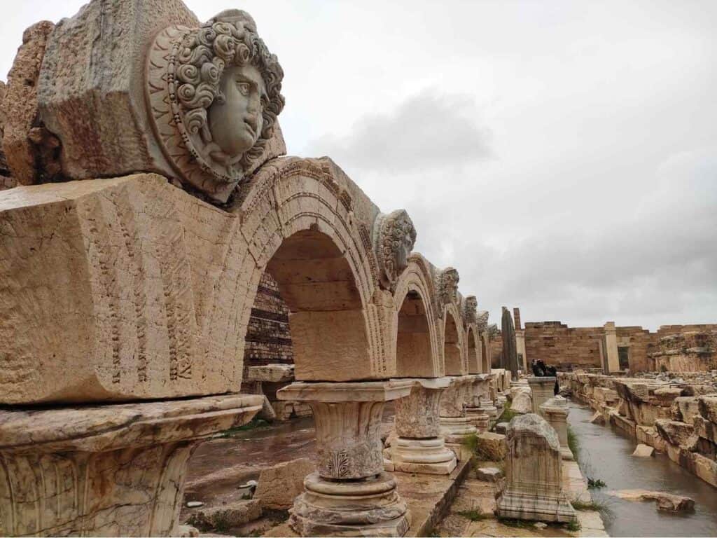
<svg viewBox="0 0 717 538"><path fill-rule="evenodd" d="M599 368L602 327L569 327L560 321L526 322L528 364L542 360L561 369Z"/></svg>

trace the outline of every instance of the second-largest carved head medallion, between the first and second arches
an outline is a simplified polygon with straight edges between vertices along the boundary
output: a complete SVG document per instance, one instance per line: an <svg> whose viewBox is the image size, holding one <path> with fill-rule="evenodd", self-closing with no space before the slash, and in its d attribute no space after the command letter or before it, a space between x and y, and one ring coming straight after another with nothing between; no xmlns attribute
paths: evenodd
<svg viewBox="0 0 717 538"><path fill-rule="evenodd" d="M379 213L374 222L374 249L381 285L393 290L408 267L408 256L416 242L416 229L405 209Z"/></svg>

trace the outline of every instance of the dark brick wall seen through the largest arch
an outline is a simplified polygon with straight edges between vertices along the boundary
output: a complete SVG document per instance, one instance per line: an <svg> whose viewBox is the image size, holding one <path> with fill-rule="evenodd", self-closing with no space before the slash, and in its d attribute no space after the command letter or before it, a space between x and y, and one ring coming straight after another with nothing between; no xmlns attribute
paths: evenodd
<svg viewBox="0 0 717 538"><path fill-rule="evenodd" d="M244 379L250 366L264 364L294 364L289 308L281 298L279 285L268 273L260 280L247 327Z"/></svg>

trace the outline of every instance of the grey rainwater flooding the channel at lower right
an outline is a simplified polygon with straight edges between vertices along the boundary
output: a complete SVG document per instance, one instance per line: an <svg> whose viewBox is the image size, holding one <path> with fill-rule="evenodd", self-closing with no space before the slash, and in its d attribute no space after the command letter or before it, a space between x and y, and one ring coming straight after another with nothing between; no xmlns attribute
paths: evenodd
<svg viewBox="0 0 717 538"><path fill-rule="evenodd" d="M717 489L681 468L663 454L653 458L631 456L637 440L610 426L589 423L593 411L571 402L568 423L580 443L579 463L584 476L599 478L604 490L591 490L607 505L603 515L610 536L717 536ZM632 502L605 491L649 489L695 499L695 511L667 514L654 502Z"/></svg>

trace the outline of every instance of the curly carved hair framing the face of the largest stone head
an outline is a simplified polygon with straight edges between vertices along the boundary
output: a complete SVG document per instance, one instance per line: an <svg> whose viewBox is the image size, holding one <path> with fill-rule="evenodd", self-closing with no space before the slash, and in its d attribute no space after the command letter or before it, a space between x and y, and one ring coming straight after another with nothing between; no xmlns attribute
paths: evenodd
<svg viewBox="0 0 717 538"><path fill-rule="evenodd" d="M246 170L260 158L270 140L277 115L284 108L281 82L284 72L257 34L252 17L244 11L222 11L198 29L186 34L176 49L174 65L176 99L181 106L185 128L212 141L207 110L214 100L224 100L219 81L225 67L253 65L264 79L268 98L262 102L264 125L257 143L239 160Z"/></svg>

